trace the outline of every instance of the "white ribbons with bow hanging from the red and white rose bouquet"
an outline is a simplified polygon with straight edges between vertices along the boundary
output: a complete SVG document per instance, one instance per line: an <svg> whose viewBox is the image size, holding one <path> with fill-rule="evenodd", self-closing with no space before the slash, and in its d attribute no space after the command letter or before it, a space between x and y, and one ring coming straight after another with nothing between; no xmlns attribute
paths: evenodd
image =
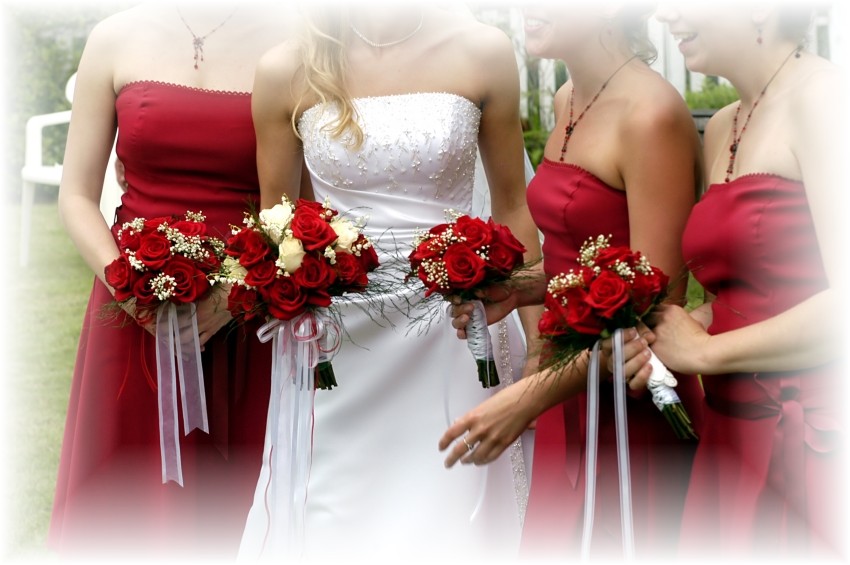
<svg viewBox="0 0 850 565"><path fill-rule="evenodd" d="M298 557L303 552L316 367L336 354L339 336L337 324L321 310L289 321L274 319L257 330L261 342L272 340L268 531L263 547L270 555Z"/></svg>

